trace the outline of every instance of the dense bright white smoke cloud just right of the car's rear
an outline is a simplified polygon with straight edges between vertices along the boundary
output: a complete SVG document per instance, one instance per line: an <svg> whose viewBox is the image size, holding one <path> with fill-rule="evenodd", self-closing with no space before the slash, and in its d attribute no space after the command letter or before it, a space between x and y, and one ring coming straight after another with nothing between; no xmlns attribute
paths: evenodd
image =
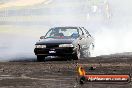
<svg viewBox="0 0 132 88"><path fill-rule="evenodd" d="M95 33L94 56L132 52L132 31L105 28Z"/></svg>

